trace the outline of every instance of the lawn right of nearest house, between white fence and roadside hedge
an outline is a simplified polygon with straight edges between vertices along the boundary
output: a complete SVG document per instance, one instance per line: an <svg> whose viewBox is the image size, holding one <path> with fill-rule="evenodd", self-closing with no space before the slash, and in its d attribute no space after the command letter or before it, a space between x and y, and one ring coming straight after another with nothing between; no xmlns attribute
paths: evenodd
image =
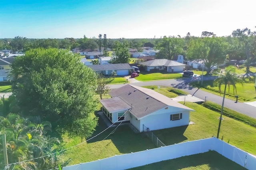
<svg viewBox="0 0 256 170"><path fill-rule="evenodd" d="M164 144L170 145L217 136L219 113L196 103L187 102L185 105L195 110L190 112L190 121L195 124L153 131ZM256 128L226 116L223 116L223 118L220 139L256 155Z"/></svg>

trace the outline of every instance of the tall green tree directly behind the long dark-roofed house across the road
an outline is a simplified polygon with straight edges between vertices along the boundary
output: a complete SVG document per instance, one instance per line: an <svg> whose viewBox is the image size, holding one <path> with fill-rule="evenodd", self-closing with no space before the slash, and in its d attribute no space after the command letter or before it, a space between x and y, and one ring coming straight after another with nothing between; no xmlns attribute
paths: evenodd
<svg viewBox="0 0 256 170"><path fill-rule="evenodd" d="M128 42L124 38L120 41L116 41L114 45L114 56L112 57L112 63L129 63L130 53L128 50Z"/></svg>

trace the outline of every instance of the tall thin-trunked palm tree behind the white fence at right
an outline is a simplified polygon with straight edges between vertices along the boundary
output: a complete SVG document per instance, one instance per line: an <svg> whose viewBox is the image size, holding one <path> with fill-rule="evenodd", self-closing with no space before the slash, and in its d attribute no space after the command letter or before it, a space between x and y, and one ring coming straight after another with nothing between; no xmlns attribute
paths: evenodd
<svg viewBox="0 0 256 170"><path fill-rule="evenodd" d="M236 83L241 83L243 85L243 81L242 79L240 79L238 77L238 75L236 74L236 67L234 66L228 66L225 69L225 75L220 75L220 77L218 77L217 79L215 79L215 81L218 84L219 87L219 91L221 92L221 85L224 84L224 92L223 92L223 100L222 100L222 106L221 106L221 111L220 111L220 122L219 122L219 127L218 127L218 133L217 133L217 138L219 138L219 133L220 133L220 124L221 124L221 120L222 120L222 114L223 114L223 107L224 107L224 100L225 100L225 95L226 95L226 87L228 85L228 93L229 93L229 89L230 89L230 85L233 86L233 93L236 90Z"/></svg>

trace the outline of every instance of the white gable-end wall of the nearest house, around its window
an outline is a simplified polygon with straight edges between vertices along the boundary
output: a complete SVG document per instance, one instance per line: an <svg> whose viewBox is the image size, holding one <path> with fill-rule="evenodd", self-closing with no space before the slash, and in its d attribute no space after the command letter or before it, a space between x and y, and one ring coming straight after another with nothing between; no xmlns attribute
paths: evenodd
<svg viewBox="0 0 256 170"><path fill-rule="evenodd" d="M170 115L182 113L182 119L170 121ZM171 127L179 127L189 124L189 111L168 106L168 109L160 109L150 115L140 119L140 132L143 125L150 130L158 130Z"/></svg>

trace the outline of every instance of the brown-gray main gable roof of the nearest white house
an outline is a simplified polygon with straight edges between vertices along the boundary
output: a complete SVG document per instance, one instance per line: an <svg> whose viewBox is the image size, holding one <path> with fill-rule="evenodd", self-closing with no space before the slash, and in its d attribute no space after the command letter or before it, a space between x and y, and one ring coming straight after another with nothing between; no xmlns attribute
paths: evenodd
<svg viewBox="0 0 256 170"><path fill-rule="evenodd" d="M141 119L167 106L193 111L189 107L172 101L169 97L157 93L156 91L134 85L125 85L118 89L111 90L109 94L111 97L119 97L130 105L130 113L137 119Z"/></svg>

